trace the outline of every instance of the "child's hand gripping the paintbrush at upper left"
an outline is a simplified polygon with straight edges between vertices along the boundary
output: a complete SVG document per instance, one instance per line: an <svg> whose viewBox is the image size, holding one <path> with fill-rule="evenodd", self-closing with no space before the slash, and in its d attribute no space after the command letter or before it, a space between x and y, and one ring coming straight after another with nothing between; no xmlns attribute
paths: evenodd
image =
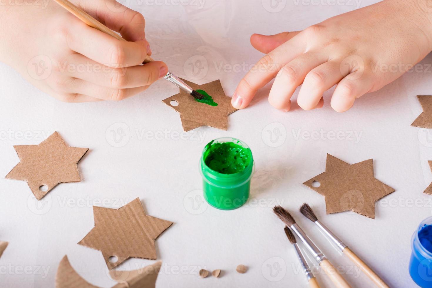
<svg viewBox="0 0 432 288"><path fill-rule="evenodd" d="M90 28L54 1L33 2L31 6L0 5L0 60L55 98L121 100L144 91L167 73L162 62L140 65L151 53L140 13L114 0L73 1L127 40L118 41Z"/></svg>

